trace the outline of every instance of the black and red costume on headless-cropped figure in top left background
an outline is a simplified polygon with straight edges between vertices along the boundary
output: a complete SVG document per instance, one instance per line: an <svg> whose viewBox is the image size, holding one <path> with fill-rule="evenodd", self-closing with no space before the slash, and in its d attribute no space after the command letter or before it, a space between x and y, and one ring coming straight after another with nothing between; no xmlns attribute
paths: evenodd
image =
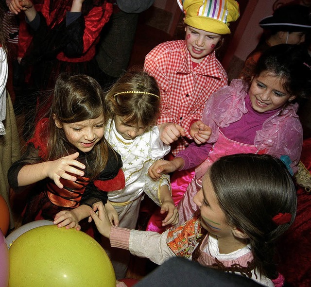
<svg viewBox="0 0 311 287"><path fill-rule="evenodd" d="M109 0L85 0L82 12L70 12L72 0L39 0L34 4L34 20L20 21L17 52L25 78L21 102L30 129L34 114L42 118L51 105L50 95L44 91L54 88L61 72L98 78L96 44L113 8Z"/></svg>

